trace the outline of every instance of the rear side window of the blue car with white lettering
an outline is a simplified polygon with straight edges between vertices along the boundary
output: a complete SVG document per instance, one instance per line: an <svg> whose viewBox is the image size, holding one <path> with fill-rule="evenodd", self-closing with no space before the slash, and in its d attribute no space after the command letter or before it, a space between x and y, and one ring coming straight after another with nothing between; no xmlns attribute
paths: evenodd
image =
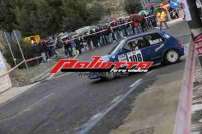
<svg viewBox="0 0 202 134"><path fill-rule="evenodd" d="M164 39L158 33L146 35L145 39L148 40L150 45L156 45L164 41Z"/></svg>

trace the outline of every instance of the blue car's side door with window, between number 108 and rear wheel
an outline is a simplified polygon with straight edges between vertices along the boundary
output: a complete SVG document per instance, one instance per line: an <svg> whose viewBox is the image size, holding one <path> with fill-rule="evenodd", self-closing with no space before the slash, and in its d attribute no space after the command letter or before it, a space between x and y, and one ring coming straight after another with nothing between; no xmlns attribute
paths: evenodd
<svg viewBox="0 0 202 134"><path fill-rule="evenodd" d="M145 46L140 48L144 61L157 62L161 59L161 53L165 46L164 38L159 33L145 35Z"/></svg>

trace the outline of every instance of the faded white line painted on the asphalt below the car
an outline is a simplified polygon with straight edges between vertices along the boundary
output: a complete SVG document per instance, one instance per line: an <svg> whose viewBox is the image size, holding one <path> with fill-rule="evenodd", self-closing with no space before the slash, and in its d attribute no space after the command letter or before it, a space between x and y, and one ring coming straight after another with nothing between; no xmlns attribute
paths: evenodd
<svg viewBox="0 0 202 134"><path fill-rule="evenodd" d="M92 116L85 124L83 124L80 128L79 131L77 132L78 134L88 134L90 130L92 130L97 123L99 123L109 112L111 112L114 108L116 108L121 102L123 102L131 93L135 91L135 89L142 83L142 79L137 80L135 83L132 84L132 88L121 96L119 99L116 100L109 108L103 110L103 112L100 112L98 114L95 114Z"/></svg>

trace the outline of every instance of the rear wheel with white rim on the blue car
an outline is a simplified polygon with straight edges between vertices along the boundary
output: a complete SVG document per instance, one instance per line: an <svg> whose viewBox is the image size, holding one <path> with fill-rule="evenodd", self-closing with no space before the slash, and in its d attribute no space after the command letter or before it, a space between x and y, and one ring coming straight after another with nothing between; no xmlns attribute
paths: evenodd
<svg viewBox="0 0 202 134"><path fill-rule="evenodd" d="M169 50L164 56L164 61L167 64L174 64L180 59L179 53L176 50Z"/></svg>

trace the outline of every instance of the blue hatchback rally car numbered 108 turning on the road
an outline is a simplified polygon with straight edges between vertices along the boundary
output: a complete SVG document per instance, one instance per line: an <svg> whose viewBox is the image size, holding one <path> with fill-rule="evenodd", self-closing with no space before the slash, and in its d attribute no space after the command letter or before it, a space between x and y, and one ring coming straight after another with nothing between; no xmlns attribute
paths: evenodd
<svg viewBox="0 0 202 134"><path fill-rule="evenodd" d="M122 39L102 57L104 61L153 61L154 64L176 63L184 55L184 48L172 35L153 31ZM113 72L91 72L90 79L113 79Z"/></svg>

